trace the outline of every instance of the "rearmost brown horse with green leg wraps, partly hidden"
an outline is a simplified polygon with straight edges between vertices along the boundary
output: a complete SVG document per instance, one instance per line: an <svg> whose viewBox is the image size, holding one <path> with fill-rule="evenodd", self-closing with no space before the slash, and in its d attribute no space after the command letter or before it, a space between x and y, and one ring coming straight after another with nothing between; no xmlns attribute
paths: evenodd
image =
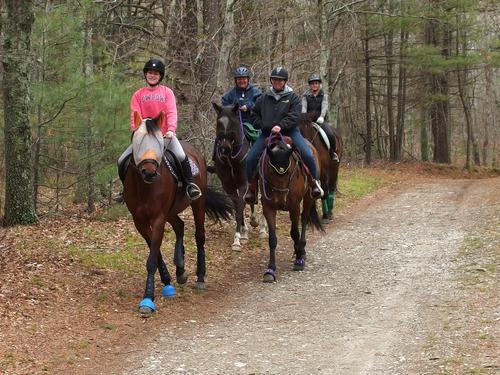
<svg viewBox="0 0 500 375"><path fill-rule="evenodd" d="M340 160L342 160L344 143L340 134L332 129L335 137L336 152L339 156L339 161L337 162L332 160L328 146L323 140L321 131L318 130L319 125L312 121L312 119L316 116L317 115L315 113L301 114L299 117L298 127L304 138L311 142L314 148L318 151L318 162L321 168L321 188L325 192L323 198L321 198L321 208L323 213L322 221L323 224L327 224L333 219L335 192L337 191Z"/></svg>

